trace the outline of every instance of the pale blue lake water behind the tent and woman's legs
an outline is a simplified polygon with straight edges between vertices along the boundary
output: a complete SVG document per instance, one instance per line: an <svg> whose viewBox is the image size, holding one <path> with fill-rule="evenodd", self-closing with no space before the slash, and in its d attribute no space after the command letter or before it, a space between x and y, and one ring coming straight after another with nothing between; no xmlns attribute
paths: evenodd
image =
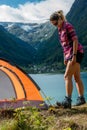
<svg viewBox="0 0 87 130"><path fill-rule="evenodd" d="M39 85L45 95L51 98L51 104L55 104L56 101L61 102L64 99L66 93L63 74L30 74L30 76ZM81 79L84 84L84 95L87 101L87 72L81 73ZM75 104L77 97L78 93L73 79L73 104Z"/></svg>

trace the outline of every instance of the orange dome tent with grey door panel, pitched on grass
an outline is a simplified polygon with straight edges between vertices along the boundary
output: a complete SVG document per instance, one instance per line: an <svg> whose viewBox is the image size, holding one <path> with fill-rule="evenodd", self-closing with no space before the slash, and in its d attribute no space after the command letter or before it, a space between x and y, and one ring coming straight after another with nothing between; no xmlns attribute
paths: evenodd
<svg viewBox="0 0 87 130"><path fill-rule="evenodd" d="M27 103L24 103L24 101L27 101ZM47 107L41 96L40 87L19 67L1 59L0 108L10 106L17 108L29 105Z"/></svg>

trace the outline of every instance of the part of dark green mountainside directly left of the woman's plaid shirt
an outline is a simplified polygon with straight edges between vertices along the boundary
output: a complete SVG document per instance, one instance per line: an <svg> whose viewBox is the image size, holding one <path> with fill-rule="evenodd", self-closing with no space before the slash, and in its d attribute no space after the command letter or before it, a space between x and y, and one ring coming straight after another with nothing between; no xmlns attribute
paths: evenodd
<svg viewBox="0 0 87 130"><path fill-rule="evenodd" d="M38 61L47 65L55 64L55 62L58 62L57 64L61 64L63 57L62 49L60 43L58 42L57 29L52 37L42 44L43 46L40 46L37 53L37 57L39 58Z"/></svg>

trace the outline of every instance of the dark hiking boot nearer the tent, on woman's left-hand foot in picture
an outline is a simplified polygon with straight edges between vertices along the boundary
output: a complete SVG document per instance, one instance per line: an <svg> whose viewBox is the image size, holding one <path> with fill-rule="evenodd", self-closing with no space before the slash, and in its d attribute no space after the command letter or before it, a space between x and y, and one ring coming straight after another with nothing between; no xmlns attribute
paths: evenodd
<svg viewBox="0 0 87 130"><path fill-rule="evenodd" d="M71 109L71 102L72 102L71 98L65 96L63 102L61 102L61 103L57 102L56 104L57 104L57 106L63 106L63 108Z"/></svg>

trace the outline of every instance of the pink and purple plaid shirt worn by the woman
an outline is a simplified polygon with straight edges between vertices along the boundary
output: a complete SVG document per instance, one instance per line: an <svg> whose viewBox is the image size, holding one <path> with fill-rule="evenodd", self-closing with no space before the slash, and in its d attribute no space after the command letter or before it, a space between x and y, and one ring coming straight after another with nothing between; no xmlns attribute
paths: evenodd
<svg viewBox="0 0 87 130"><path fill-rule="evenodd" d="M65 60L69 60L73 56L73 41L78 39L74 27L68 23L63 22L62 27L58 28L59 39L64 52ZM78 43L78 52L83 53L83 47Z"/></svg>

